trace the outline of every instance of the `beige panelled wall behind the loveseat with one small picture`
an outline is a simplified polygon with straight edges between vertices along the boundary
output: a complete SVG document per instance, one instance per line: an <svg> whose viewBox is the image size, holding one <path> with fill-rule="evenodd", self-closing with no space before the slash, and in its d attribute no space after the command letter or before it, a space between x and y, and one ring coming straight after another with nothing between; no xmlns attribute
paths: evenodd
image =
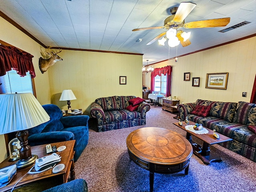
<svg viewBox="0 0 256 192"><path fill-rule="evenodd" d="M67 110L67 102L59 101L62 90L71 89L76 100L72 109L82 108L90 115L90 105L96 98L107 96L142 97L142 56L103 52L63 50L49 71L51 103ZM126 85L119 84L126 76Z"/></svg>

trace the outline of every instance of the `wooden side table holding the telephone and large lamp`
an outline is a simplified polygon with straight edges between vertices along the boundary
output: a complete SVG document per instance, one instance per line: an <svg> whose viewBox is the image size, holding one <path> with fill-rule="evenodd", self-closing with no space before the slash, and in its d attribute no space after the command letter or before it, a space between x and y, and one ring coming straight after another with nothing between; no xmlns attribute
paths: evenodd
<svg viewBox="0 0 256 192"><path fill-rule="evenodd" d="M27 174L24 176L32 166L29 166L27 168L18 169L17 174L12 178L11 182L0 189L0 192L9 192L14 184L22 177L22 180L18 182L18 184L15 187L14 192L40 192L49 188L52 188L54 186L66 183L68 181L68 174L70 172L70 178L71 180L75 179L75 171L74 171L74 144L75 140L71 141L64 141L64 142L57 142L57 143L51 143L51 146L56 146L57 148L60 146L66 146L66 149L62 152L56 152L61 156L61 161L58 164L64 164L65 168L61 172L58 173L52 173L52 169L49 169L42 173L37 174ZM31 152L32 154L38 155L38 158L41 158L43 156L46 156L46 145L38 145L38 146L32 146ZM12 164L15 164L17 161L8 162L8 158L6 158L2 163L0 163L0 168L10 166Z"/></svg>

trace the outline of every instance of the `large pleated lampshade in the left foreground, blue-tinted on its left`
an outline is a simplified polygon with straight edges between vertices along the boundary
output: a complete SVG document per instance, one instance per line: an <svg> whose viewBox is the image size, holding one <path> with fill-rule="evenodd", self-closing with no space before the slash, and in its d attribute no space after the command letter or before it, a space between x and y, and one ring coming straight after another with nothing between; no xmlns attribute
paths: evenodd
<svg viewBox="0 0 256 192"><path fill-rule="evenodd" d="M0 94L0 134L26 130L50 120L32 93Z"/></svg>

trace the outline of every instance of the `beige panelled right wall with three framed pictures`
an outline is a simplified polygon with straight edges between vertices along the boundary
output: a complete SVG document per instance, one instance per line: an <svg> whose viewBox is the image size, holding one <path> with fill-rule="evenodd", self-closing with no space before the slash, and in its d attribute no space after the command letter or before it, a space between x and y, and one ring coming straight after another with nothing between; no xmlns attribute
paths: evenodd
<svg viewBox="0 0 256 192"><path fill-rule="evenodd" d="M190 46L193 46L192 44ZM250 102L256 74L256 37L179 57L154 65L172 66L172 96L180 102L205 99L223 102ZM184 72L190 72L190 81L184 81ZM206 74L228 72L227 90L205 88ZM192 87L192 77L200 77L200 87ZM150 86L150 78L145 80ZM247 92L247 97L242 97ZM160 101L161 103L161 101Z"/></svg>

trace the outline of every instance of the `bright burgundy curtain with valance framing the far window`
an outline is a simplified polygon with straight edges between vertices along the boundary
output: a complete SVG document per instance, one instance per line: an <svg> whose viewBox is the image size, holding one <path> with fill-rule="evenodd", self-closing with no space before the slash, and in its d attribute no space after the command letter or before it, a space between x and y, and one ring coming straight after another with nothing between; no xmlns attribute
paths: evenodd
<svg viewBox="0 0 256 192"><path fill-rule="evenodd" d="M168 65L162 68L155 68L153 72L151 72L151 91L154 91L155 87L155 76L161 74L167 75L166 80L166 97L171 95L171 81L172 81L172 66Z"/></svg>

